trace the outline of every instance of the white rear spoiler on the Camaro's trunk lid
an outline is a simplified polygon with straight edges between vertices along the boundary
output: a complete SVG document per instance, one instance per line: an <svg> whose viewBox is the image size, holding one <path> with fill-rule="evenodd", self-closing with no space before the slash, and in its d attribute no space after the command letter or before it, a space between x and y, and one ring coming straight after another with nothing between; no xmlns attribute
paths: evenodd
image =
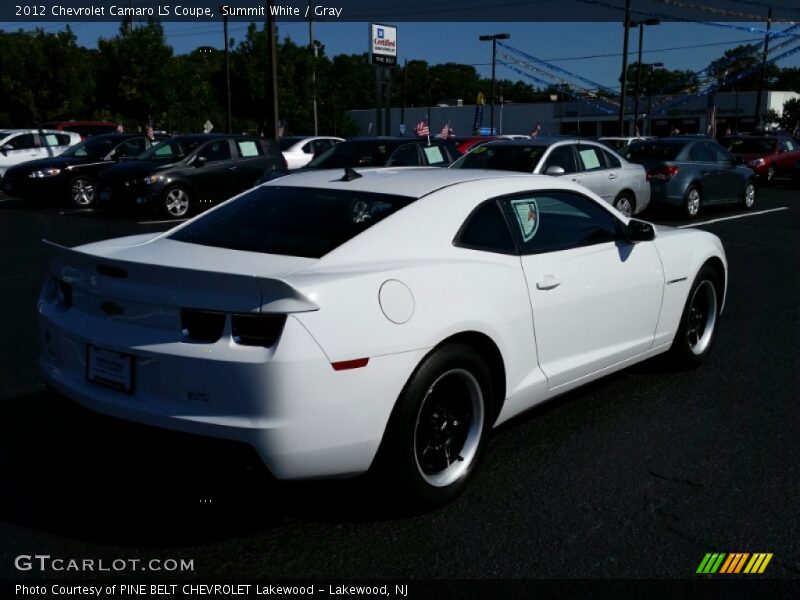
<svg viewBox="0 0 800 600"><path fill-rule="evenodd" d="M74 287L154 306L296 313L319 306L281 279L106 258L48 240L50 272Z"/></svg>

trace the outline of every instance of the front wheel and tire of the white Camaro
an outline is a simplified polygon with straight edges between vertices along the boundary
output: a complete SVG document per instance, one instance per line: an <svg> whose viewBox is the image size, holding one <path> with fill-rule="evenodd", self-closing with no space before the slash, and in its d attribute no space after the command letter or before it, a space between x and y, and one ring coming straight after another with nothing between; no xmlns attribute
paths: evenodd
<svg viewBox="0 0 800 600"><path fill-rule="evenodd" d="M695 277L683 308L669 358L675 366L699 367L714 343L722 298L716 272L704 265Z"/></svg>

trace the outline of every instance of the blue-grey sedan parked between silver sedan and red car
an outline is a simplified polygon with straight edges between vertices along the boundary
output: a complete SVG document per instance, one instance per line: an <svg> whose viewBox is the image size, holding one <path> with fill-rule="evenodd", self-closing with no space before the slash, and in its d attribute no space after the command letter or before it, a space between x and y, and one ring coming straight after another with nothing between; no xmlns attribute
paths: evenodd
<svg viewBox="0 0 800 600"><path fill-rule="evenodd" d="M643 165L653 204L679 209L690 219L701 206L756 201L756 177L714 140L673 136L628 146L622 155Z"/></svg>

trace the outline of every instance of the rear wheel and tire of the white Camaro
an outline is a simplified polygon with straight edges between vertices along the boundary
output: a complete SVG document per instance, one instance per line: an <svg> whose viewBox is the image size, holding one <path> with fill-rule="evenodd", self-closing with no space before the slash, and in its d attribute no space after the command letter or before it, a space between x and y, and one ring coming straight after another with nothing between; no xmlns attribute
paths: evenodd
<svg viewBox="0 0 800 600"><path fill-rule="evenodd" d="M466 488L491 425L486 364L464 344L429 354L406 383L381 445L379 475L395 499L439 506Z"/></svg>

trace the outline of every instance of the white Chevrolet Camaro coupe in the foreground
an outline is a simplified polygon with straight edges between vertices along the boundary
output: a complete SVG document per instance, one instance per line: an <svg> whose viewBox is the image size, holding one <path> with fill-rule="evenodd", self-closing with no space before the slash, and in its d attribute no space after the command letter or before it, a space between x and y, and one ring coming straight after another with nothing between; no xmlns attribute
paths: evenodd
<svg viewBox="0 0 800 600"><path fill-rule="evenodd" d="M373 469L428 505L537 403L661 353L699 365L727 282L710 233L461 169L299 173L166 233L51 246L50 386L246 442L279 479Z"/></svg>

